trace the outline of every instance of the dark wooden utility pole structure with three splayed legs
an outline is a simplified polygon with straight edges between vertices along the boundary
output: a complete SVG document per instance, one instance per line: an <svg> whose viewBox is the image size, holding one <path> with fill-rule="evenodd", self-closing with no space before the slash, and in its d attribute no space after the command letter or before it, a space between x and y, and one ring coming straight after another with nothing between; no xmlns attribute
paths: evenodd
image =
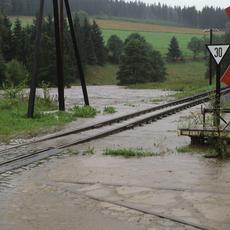
<svg viewBox="0 0 230 230"><path fill-rule="evenodd" d="M77 67L79 70L80 81L84 96L85 105L89 105L89 98L85 83L85 76L83 71L83 66L81 62L80 52L77 44L76 34L74 31L73 19L71 15L71 10L68 0L53 0L53 14L54 14L54 26L55 26L55 44L56 44L56 65L57 65L57 82L58 82L58 101L59 110L65 110L65 94L64 94L64 1L66 12L68 16L68 22L75 52L75 58ZM30 95L28 102L28 112L27 116L29 118L33 117L34 114L34 103L36 97L36 87L38 79L39 61L40 61L40 49L41 49L41 33L42 33L42 21L44 12L44 2L45 0L40 0L40 10L37 17L36 24L36 42L35 42L35 52L33 58L33 73L30 86Z"/></svg>

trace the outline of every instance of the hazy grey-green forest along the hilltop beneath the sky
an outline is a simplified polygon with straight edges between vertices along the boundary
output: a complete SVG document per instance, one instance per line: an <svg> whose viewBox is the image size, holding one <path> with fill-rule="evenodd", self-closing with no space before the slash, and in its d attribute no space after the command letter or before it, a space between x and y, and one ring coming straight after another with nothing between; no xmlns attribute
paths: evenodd
<svg viewBox="0 0 230 230"><path fill-rule="evenodd" d="M7 15L32 16L38 9L38 0L1 0L0 9ZM170 7L165 4L146 4L124 0L70 0L73 11L84 10L92 16L125 17L157 20L199 28L224 28L227 22L221 8ZM52 14L52 0L45 1L45 14Z"/></svg>

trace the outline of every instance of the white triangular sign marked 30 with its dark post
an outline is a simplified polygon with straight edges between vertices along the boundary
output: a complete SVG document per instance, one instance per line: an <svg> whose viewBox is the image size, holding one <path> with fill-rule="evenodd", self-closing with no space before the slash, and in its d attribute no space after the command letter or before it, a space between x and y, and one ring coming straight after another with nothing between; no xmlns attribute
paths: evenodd
<svg viewBox="0 0 230 230"><path fill-rule="evenodd" d="M214 103L214 126L220 125L220 74L221 62L226 55L229 45L207 45L207 49L216 62L216 96Z"/></svg>

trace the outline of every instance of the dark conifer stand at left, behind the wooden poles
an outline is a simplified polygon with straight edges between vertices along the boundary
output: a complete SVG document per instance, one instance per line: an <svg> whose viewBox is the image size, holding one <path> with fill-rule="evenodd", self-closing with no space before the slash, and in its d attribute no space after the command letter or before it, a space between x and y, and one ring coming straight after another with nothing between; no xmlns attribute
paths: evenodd
<svg viewBox="0 0 230 230"><path fill-rule="evenodd" d="M0 15L0 84L17 85L28 82L32 73L36 19L32 25L23 27L16 19L12 24L7 16ZM84 17L80 22L74 17L74 27L78 31L78 42L83 65L103 65L107 61L107 51L102 33L95 21ZM45 18L42 28L40 49L39 82L57 84L56 51L53 17ZM64 21L64 72L65 84L76 81L78 71L75 66L72 40L67 21ZM4 64L4 65L3 65ZM27 76L27 79L25 77Z"/></svg>

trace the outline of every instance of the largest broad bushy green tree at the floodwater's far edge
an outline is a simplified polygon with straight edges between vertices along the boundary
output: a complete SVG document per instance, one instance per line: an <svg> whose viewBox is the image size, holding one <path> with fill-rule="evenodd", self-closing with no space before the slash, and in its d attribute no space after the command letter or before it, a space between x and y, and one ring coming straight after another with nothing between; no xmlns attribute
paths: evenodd
<svg viewBox="0 0 230 230"><path fill-rule="evenodd" d="M165 74L161 55L150 44L139 39L126 44L117 72L121 85L164 80Z"/></svg>

